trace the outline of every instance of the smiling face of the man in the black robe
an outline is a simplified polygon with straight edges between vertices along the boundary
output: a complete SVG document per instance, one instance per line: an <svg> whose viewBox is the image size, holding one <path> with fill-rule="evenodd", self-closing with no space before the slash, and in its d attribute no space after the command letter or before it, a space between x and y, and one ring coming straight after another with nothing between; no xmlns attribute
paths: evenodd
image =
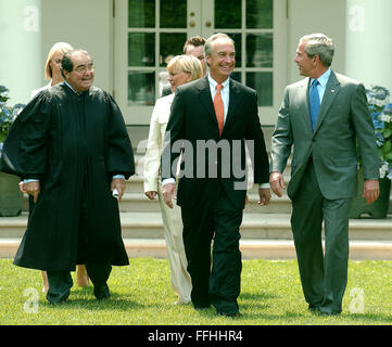
<svg viewBox="0 0 392 347"><path fill-rule="evenodd" d="M71 60L74 68L71 73L64 70L65 80L78 93L88 90L94 79L91 57L83 52L75 52Z"/></svg>

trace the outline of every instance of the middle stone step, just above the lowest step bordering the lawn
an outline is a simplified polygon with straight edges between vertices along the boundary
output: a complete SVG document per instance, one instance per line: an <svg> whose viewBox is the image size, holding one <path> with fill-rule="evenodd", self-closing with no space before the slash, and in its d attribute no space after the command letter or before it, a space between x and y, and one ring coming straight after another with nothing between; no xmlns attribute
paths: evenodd
<svg viewBox="0 0 392 347"><path fill-rule="evenodd" d="M160 213L122 213L124 239L164 239ZM22 237L27 213L18 217L0 218L0 239ZM241 226L243 240L292 240L290 214L244 214ZM351 219L350 239L392 242L392 215L385 219Z"/></svg>

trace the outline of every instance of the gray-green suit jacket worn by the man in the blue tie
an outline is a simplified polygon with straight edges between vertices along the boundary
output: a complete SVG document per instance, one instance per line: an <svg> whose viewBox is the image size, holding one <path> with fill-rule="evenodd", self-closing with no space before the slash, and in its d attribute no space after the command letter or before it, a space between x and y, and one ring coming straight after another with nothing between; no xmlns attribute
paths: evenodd
<svg viewBox="0 0 392 347"><path fill-rule="evenodd" d="M315 130L308 110L309 78L288 86L273 134L270 171L282 172L294 145L288 195L292 198L309 157L321 193L329 200L356 193L358 141L364 178L379 177L375 130L362 83L331 75L320 105Z"/></svg>

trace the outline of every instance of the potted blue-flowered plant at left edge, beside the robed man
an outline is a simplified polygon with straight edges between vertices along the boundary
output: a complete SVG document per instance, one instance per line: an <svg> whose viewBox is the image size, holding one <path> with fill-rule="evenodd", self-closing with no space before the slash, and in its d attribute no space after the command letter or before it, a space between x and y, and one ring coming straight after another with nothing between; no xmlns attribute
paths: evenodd
<svg viewBox="0 0 392 347"><path fill-rule="evenodd" d="M0 86L0 156L3 141L15 120L18 113L24 107L23 104L9 106L9 89ZM18 216L22 213L23 194L18 189L18 179L15 176L0 172L0 217Z"/></svg>

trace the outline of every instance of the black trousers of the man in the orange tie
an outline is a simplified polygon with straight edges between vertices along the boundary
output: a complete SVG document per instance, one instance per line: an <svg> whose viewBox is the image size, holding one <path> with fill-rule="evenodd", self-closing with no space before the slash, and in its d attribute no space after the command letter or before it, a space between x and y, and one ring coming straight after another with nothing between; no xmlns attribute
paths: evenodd
<svg viewBox="0 0 392 347"><path fill-rule="evenodd" d="M184 244L192 280L195 308L210 306L219 312L238 312L241 287L239 250L242 209L236 208L220 189L217 200L200 208L181 208ZM211 266L211 242L214 236Z"/></svg>

